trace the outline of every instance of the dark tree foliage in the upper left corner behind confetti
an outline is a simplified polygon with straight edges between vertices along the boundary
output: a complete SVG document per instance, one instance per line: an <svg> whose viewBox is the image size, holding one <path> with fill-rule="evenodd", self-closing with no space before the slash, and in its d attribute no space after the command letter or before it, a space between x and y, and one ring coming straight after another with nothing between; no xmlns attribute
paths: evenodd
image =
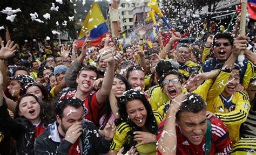
<svg viewBox="0 0 256 155"><path fill-rule="evenodd" d="M8 3L2 2L3 6L0 8L1 10L5 7L11 7L12 9L21 9L22 12L16 13L16 17L14 22L10 22L6 20L6 15L4 16L3 24L8 26L9 32L12 40L21 41L24 39L37 39L42 40L46 36L53 38L52 30L57 31L68 31L71 34L76 34L75 32L75 20L69 22L69 16L74 16L74 8L73 3L70 1L63 0L63 4L59 4L55 2L55 0L4 0L8 1ZM59 6L58 11L51 11L50 8L52 3L55 3L55 6ZM36 21L32 21L30 13L37 12L38 18L43 20L44 23L39 23ZM46 20L43 15L45 13L50 13L51 18ZM62 25L62 23L66 20L68 23L66 26ZM56 25L58 21L59 26ZM71 36L75 38L75 36Z"/></svg>

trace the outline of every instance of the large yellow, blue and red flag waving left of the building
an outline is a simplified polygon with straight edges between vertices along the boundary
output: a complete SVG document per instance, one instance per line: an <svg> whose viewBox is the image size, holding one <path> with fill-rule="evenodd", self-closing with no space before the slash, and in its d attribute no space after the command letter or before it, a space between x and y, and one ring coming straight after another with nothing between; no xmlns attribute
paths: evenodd
<svg viewBox="0 0 256 155"><path fill-rule="evenodd" d="M106 33L109 31L97 2L92 4L92 7L84 20L83 27L80 30L77 40L78 48L82 47L84 43L86 31L91 31L90 37L92 39L93 46L99 45L100 41L106 37Z"/></svg>

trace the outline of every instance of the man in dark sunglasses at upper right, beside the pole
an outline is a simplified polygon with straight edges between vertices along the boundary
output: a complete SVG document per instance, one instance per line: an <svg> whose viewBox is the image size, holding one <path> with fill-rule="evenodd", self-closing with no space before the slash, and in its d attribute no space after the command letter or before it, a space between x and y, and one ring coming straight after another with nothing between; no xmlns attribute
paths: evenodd
<svg viewBox="0 0 256 155"><path fill-rule="evenodd" d="M201 72L210 72L214 69L220 69L223 67L226 60L230 57L233 47L234 38L230 33L218 33L213 38L212 50L215 54L215 58L212 60L206 61L200 71ZM244 44L244 47L247 45ZM238 61L236 62L238 64ZM240 66L241 67L241 66ZM247 58L244 60L244 67L241 67L240 73L240 83L244 87L248 87L250 79L254 75L254 68L251 61L248 61Z"/></svg>

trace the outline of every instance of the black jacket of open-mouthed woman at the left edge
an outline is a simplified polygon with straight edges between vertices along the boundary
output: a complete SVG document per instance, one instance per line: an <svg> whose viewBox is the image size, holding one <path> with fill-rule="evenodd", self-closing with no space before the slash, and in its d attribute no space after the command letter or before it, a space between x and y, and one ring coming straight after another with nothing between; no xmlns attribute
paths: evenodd
<svg viewBox="0 0 256 155"><path fill-rule="evenodd" d="M11 137L17 140L19 155L34 154L35 127L24 117L12 119L7 110L5 100L3 102L3 106L0 107L0 131L9 133ZM47 125L44 124L44 128L47 128Z"/></svg>

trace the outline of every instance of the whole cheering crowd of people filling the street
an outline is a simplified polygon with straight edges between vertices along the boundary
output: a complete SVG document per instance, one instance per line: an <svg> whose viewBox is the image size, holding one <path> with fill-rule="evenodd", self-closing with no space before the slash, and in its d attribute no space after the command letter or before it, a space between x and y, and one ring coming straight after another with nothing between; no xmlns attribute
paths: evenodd
<svg viewBox="0 0 256 155"><path fill-rule="evenodd" d="M143 26L125 44L2 41L0 154L255 154L255 38L218 30L188 45Z"/></svg>

